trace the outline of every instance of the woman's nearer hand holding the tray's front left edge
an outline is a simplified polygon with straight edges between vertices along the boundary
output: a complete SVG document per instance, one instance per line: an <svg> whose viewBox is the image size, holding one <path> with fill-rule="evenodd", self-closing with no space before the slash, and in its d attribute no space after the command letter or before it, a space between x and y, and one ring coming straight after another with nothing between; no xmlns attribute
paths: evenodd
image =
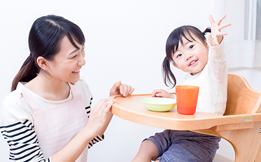
<svg viewBox="0 0 261 162"><path fill-rule="evenodd" d="M115 99L104 98L101 99L99 102L97 102L91 108L86 129L88 129L93 134L93 137L97 136L104 129L104 126L108 124L107 123L108 113L111 105L115 102L116 102Z"/></svg>

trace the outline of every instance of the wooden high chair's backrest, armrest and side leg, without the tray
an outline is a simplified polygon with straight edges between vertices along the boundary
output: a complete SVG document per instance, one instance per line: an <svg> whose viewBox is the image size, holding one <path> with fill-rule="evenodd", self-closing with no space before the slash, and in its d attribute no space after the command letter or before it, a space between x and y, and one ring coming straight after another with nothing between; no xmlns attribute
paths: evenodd
<svg viewBox="0 0 261 162"><path fill-rule="evenodd" d="M254 91L245 78L228 74L227 103L224 120L231 116L248 114L237 119L235 124L217 125L204 131L213 131L229 141L235 150L235 161L261 161L261 93ZM258 118L258 119L254 119ZM199 132L202 130L199 130ZM232 161L216 154L217 161Z"/></svg>

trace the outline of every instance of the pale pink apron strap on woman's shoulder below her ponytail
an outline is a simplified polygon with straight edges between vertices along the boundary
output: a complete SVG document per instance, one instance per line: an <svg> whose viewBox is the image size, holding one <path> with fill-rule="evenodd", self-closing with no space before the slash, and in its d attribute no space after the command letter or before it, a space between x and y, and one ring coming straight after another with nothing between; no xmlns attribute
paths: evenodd
<svg viewBox="0 0 261 162"><path fill-rule="evenodd" d="M34 113L40 111L41 108L39 104L35 101L35 99L33 98L32 94L28 91L28 89L23 85L21 86L21 90L23 93L22 96L24 97L26 102L32 107Z"/></svg>

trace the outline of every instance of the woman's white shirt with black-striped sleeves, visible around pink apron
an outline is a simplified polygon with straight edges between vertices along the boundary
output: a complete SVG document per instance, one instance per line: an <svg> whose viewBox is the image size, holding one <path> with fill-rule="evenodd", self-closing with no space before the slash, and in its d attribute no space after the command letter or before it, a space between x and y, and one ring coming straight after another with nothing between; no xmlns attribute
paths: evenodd
<svg viewBox="0 0 261 162"><path fill-rule="evenodd" d="M81 91L86 113L90 113L92 95L86 82L81 78L76 85ZM51 161L50 157L44 157L39 147L36 132L34 131L33 110L19 94L17 90L11 92L4 100L0 111L0 131L9 144L10 161ZM57 106L72 99L69 97L63 101L48 101L40 96L30 92L42 109ZM96 136L89 144L93 144L104 139L104 135Z"/></svg>

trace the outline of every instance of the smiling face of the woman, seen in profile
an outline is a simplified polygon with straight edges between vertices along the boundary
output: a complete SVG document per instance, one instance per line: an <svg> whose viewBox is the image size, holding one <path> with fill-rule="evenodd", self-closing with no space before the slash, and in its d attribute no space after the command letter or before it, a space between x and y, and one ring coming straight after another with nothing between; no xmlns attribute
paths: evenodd
<svg viewBox="0 0 261 162"><path fill-rule="evenodd" d="M53 61L49 62L48 73L58 81L75 83L80 78L80 69L85 65L84 45L75 42L80 48L75 48L67 37L61 42L60 52L57 53Z"/></svg>

